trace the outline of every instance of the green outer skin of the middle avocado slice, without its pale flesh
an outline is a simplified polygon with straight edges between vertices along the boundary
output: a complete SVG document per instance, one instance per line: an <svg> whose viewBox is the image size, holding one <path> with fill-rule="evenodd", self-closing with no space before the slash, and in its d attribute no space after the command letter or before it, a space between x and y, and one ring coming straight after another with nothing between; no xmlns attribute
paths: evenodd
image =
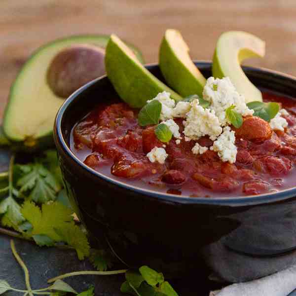
<svg viewBox="0 0 296 296"><path fill-rule="evenodd" d="M170 54L165 54L170 52ZM183 97L187 97L196 94L202 97L202 91L204 85L197 81L185 65L179 61L175 56L170 44L163 37L160 50L159 50L159 68L166 82L172 87L178 94ZM176 72L178 69L178 72Z"/></svg>

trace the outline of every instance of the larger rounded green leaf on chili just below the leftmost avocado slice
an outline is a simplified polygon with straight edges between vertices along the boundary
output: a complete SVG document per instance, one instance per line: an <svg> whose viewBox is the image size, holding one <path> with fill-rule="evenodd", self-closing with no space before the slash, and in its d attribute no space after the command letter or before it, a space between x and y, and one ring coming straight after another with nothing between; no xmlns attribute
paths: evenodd
<svg viewBox="0 0 296 296"><path fill-rule="evenodd" d="M159 121L162 105L157 100L146 104L139 112L138 122L141 126L157 124Z"/></svg>

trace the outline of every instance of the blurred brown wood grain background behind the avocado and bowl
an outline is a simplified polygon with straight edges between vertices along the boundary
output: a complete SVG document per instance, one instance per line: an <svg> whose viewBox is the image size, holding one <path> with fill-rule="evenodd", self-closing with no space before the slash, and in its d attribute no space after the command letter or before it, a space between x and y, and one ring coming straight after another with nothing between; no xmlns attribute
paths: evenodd
<svg viewBox="0 0 296 296"><path fill-rule="evenodd" d="M182 32L194 59L211 59L223 31L251 32L267 54L247 64L296 75L296 0L0 0L0 114L21 65L43 43L115 33L150 63L167 28Z"/></svg>

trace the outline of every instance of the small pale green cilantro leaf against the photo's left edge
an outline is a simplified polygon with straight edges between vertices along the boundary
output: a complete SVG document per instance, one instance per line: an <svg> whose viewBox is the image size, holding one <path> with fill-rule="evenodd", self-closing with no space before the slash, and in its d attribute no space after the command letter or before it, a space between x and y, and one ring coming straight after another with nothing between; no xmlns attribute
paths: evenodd
<svg viewBox="0 0 296 296"><path fill-rule="evenodd" d="M18 230L18 224L25 221L20 205L12 196L8 196L0 202L0 214L4 214L1 219L2 225L13 227L15 230Z"/></svg>

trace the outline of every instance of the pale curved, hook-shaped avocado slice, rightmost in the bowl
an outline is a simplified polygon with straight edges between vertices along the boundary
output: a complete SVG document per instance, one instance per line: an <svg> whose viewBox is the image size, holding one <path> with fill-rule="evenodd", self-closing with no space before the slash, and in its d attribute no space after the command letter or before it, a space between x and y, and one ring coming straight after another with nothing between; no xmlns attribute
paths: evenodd
<svg viewBox="0 0 296 296"><path fill-rule="evenodd" d="M242 31L223 33L217 42L213 57L214 77L228 76L236 90L245 96L246 103L262 102L262 94L243 72L240 64L251 57L264 57L265 42Z"/></svg>

